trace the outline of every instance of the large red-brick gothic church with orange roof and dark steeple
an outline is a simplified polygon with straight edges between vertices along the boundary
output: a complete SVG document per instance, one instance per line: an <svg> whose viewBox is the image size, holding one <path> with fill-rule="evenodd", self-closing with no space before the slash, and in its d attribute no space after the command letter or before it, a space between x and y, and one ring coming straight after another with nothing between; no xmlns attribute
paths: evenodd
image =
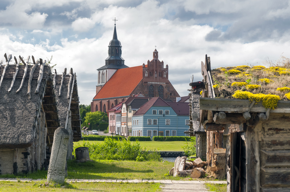
<svg viewBox="0 0 290 192"><path fill-rule="evenodd" d="M113 39L109 43L105 65L98 68L96 95L91 102L91 111L107 112L129 96L160 97L176 101L179 94L168 80L168 65L158 59L158 51L147 65L128 67L121 57L121 42L117 38L116 24Z"/></svg>

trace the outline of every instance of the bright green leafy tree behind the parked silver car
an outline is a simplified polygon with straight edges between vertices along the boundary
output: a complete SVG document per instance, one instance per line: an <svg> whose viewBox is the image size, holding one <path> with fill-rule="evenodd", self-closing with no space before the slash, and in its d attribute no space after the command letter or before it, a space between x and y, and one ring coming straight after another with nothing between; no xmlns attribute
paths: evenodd
<svg viewBox="0 0 290 192"><path fill-rule="evenodd" d="M82 123L82 127L89 127L89 123L91 125L98 126L100 123L108 123L109 118L107 113L96 111L96 112L87 112L85 114L85 120Z"/></svg>

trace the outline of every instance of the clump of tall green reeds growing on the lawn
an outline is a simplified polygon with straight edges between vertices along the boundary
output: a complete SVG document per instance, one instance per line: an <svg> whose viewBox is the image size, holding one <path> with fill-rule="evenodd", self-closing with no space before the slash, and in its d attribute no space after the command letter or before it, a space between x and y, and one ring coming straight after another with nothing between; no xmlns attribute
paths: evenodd
<svg viewBox="0 0 290 192"><path fill-rule="evenodd" d="M114 138L105 138L101 143L86 143L76 145L74 148L84 146L89 147L89 155L92 160L131 160L131 161L161 161L160 152L142 150L140 143L130 142L126 139L116 140Z"/></svg>

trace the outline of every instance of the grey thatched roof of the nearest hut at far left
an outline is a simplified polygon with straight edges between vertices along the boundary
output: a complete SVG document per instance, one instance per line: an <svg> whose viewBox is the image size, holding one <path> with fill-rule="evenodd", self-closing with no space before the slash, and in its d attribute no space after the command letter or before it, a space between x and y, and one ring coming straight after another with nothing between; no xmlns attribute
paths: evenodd
<svg viewBox="0 0 290 192"><path fill-rule="evenodd" d="M40 115L41 104L47 104L43 106L44 112L47 110L56 110L55 108L49 108L50 103L54 101L54 92L53 89L50 88L53 86L50 67L48 65L44 65L39 93L35 93L35 90L38 84L37 79L40 65L36 67L31 80L31 99L28 98L27 87L32 66L33 65L28 65L23 87L18 93L16 93L16 90L20 87L25 65L19 65L14 86L10 92L8 92L8 89L11 85L16 65L9 65L5 72L0 87L0 148L23 148L31 146L34 142L35 124ZM3 69L4 65L0 66L1 75ZM48 97L44 98L44 95ZM56 121L51 122L53 124L51 126L55 126L56 128L59 126L57 114L46 118L56 119Z"/></svg>

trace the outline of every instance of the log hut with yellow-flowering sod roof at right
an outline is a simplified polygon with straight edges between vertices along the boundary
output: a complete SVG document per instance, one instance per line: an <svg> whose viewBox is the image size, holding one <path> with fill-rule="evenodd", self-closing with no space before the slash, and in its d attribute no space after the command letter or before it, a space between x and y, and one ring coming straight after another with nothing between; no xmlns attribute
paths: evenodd
<svg viewBox="0 0 290 192"><path fill-rule="evenodd" d="M201 70L205 89L199 117L207 133L208 171L226 172L227 191L289 191L290 68L211 70L206 56Z"/></svg>

